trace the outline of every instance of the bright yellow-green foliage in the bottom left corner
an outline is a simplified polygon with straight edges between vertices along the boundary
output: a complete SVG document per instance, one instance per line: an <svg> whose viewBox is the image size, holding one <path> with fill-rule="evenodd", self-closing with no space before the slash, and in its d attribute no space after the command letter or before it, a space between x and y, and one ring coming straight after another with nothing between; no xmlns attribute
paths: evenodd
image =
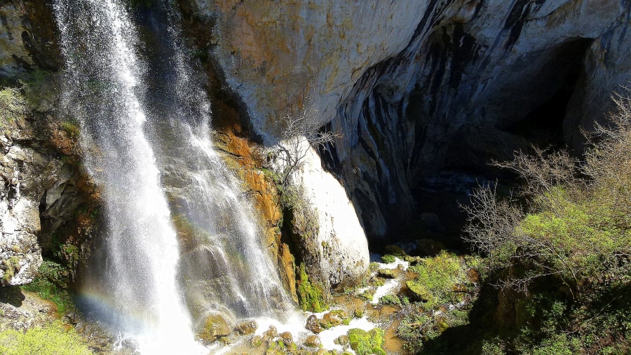
<svg viewBox="0 0 631 355"><path fill-rule="evenodd" d="M0 354L5 355L88 355L92 351L74 330L65 330L62 323L46 327L0 332Z"/></svg>

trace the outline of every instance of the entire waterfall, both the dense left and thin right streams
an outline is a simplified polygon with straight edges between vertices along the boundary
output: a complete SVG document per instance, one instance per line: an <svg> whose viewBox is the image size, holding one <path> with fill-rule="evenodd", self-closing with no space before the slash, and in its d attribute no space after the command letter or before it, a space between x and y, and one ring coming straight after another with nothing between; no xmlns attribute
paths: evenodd
<svg viewBox="0 0 631 355"><path fill-rule="evenodd" d="M136 21L116 0L54 8L64 104L107 227L81 288L88 312L143 354L203 353L193 334L208 314L282 318L290 301L213 149L210 103L172 5Z"/></svg>

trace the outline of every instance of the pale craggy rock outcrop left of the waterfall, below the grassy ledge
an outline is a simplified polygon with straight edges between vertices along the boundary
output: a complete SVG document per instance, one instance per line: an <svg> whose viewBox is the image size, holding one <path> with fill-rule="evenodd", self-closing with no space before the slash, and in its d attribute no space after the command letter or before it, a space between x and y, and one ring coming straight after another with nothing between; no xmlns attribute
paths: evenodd
<svg viewBox="0 0 631 355"><path fill-rule="evenodd" d="M12 95L25 100L19 91ZM91 233L97 200L76 164L76 143L52 116L6 111L4 102L0 109L8 115L0 134L1 284L32 281L42 249L74 270L87 256L81 244Z"/></svg>

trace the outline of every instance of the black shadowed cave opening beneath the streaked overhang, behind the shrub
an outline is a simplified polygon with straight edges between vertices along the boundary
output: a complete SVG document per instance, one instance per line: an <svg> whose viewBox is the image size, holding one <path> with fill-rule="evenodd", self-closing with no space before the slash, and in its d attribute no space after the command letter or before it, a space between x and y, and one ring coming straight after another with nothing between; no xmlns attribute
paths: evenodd
<svg viewBox="0 0 631 355"><path fill-rule="evenodd" d="M533 100L530 107L520 108L520 112L525 112L523 116L517 118L514 113L508 113L510 116L482 118L480 122L486 122L486 125L464 125L448 142L445 160L430 169L432 172L423 176L413 189L421 214L405 228L423 230L432 239L460 249L464 247L461 230L467 218L460 205L468 204L471 190L479 184L494 181L502 190L515 187L517 176L490 166L491 160L510 160L515 151L529 145L565 148L568 144L564 138L567 137L564 132L566 111L575 90L582 85L583 60L591 43L591 39L564 43L554 49L552 60L541 70L542 75L524 80L531 83L530 92L521 95L537 97L543 88L550 94ZM501 92L501 95L505 94ZM433 222L429 225L422 222L428 219Z"/></svg>

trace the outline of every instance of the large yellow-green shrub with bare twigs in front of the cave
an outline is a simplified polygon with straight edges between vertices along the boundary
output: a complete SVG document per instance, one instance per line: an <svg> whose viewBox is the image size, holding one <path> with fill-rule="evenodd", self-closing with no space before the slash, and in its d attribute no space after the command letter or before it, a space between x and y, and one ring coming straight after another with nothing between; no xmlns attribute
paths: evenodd
<svg viewBox="0 0 631 355"><path fill-rule="evenodd" d="M497 164L524 181L523 206L481 186L464 207L465 239L487 256L487 281L527 294L517 337L500 333L506 349L631 351L631 101L616 102L610 125L589 137L583 162L534 148Z"/></svg>

